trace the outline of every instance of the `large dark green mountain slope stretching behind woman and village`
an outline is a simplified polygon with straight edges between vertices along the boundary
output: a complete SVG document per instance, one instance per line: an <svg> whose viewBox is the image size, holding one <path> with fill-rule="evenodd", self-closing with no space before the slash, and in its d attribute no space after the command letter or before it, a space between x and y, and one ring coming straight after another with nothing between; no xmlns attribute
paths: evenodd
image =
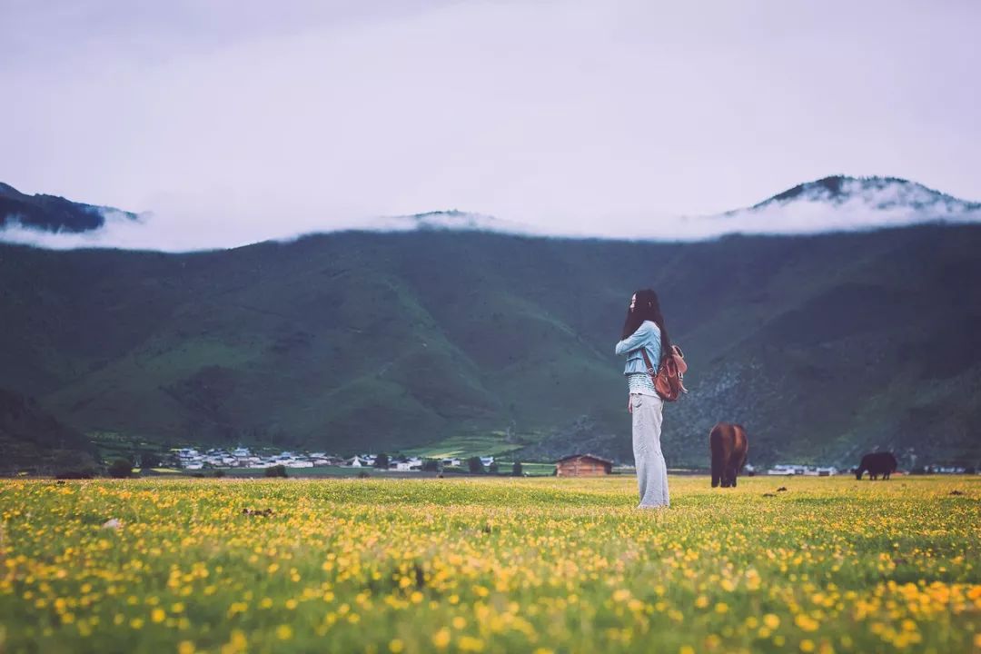
<svg viewBox="0 0 981 654"><path fill-rule="evenodd" d="M86 432L169 444L632 461L631 293L661 295L709 428L751 462L981 460L981 226L694 243L339 232L234 250L0 245L0 386ZM915 459L910 457L915 457Z"/></svg>

